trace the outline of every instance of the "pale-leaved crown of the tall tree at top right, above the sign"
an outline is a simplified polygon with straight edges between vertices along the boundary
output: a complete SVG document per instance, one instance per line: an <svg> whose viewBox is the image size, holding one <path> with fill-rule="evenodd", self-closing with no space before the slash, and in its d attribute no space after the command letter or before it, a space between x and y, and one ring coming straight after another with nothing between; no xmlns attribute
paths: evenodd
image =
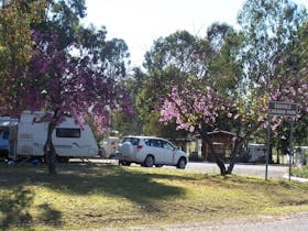
<svg viewBox="0 0 308 231"><path fill-rule="evenodd" d="M277 74L278 65L295 42L298 28L307 19L305 9L289 0L245 1L238 22L244 34L242 58L248 85L264 90Z"/></svg>

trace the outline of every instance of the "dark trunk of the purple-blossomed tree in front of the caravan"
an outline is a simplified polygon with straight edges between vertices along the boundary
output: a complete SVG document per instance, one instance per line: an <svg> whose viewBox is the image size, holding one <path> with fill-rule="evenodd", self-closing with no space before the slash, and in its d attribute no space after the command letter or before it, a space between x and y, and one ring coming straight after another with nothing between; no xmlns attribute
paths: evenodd
<svg viewBox="0 0 308 231"><path fill-rule="evenodd" d="M50 121L48 123L48 131L47 131L47 140L44 145L44 160L46 161L46 164L48 166L50 174L56 175L56 151L53 144L53 131L55 129L56 124L53 121Z"/></svg>

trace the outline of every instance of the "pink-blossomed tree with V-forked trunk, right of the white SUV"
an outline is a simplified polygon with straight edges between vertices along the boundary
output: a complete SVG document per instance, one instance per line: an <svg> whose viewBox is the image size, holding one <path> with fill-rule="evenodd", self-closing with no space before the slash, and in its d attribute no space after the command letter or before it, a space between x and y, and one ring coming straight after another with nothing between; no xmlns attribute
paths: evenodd
<svg viewBox="0 0 308 231"><path fill-rule="evenodd" d="M200 134L202 147L206 145L209 147L221 174L226 175L232 173L235 155L240 152L241 145L265 122L266 103L264 102L264 100L251 101L251 107L248 110L248 103L244 105L239 99L234 100L234 98L221 96L213 88L206 90L183 89L183 86L174 86L162 106L161 121L175 121L178 124L177 129ZM227 124L231 124L235 132L228 168L223 160L217 155L213 143L208 135L208 132L216 129L222 130ZM246 130L246 128L250 129ZM243 132L245 132L244 136L241 135Z"/></svg>

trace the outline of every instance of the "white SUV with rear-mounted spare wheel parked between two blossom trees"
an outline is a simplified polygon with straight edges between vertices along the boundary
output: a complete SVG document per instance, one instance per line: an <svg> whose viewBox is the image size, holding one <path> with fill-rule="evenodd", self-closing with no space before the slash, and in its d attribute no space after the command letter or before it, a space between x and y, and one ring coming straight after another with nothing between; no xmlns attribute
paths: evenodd
<svg viewBox="0 0 308 231"><path fill-rule="evenodd" d="M185 152L162 138L125 136L119 152L119 163L127 166L136 163L145 167L173 165L184 169L188 163Z"/></svg>

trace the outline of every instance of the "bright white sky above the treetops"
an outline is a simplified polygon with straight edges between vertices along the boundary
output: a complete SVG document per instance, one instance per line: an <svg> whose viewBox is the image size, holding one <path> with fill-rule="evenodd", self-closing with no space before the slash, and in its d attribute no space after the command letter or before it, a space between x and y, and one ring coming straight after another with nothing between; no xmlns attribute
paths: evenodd
<svg viewBox="0 0 308 231"><path fill-rule="evenodd" d="M131 65L142 66L153 42L178 30L205 36L213 22L237 28L244 0L86 0L85 25L106 26L107 38L123 38ZM308 0L296 0L308 9Z"/></svg>

